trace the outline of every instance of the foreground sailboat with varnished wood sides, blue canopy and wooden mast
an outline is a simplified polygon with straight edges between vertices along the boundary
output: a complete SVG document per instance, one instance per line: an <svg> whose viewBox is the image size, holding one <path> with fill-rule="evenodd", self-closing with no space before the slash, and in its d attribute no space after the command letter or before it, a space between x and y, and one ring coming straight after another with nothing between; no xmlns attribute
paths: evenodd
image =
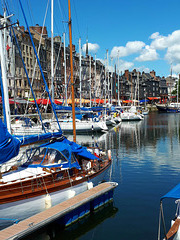
<svg viewBox="0 0 180 240"><path fill-rule="evenodd" d="M21 0L19 3L23 12ZM70 0L68 5L72 69ZM31 35L30 31L29 34ZM73 74L71 81L73 82ZM72 107L74 109L74 104ZM110 152L108 152L109 157L106 158L106 153L100 151L98 147L87 149L75 143L74 110L73 125L74 142L62 135L54 141L29 148L20 157L24 161L23 165L13 167L1 174L0 221L2 224L10 219L27 218L86 191L103 180L104 174L111 165Z"/></svg>

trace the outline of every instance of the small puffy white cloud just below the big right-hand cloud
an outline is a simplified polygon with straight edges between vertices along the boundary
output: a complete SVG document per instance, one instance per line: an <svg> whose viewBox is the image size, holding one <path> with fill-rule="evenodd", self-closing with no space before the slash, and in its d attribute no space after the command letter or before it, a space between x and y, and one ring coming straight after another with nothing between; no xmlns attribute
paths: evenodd
<svg viewBox="0 0 180 240"><path fill-rule="evenodd" d="M145 62L145 61L155 61L158 59L158 54L156 49L151 48L146 45L145 49L142 50L141 55L135 58L135 61Z"/></svg>

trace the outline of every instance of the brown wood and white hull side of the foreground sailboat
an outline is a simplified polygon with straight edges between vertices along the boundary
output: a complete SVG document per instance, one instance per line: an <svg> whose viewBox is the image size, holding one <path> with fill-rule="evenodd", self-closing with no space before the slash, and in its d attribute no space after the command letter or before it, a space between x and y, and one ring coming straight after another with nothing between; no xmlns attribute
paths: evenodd
<svg viewBox="0 0 180 240"><path fill-rule="evenodd" d="M45 210L45 198L47 193L50 194L52 200L52 206L63 202L77 194L80 194L86 191L89 187L89 184L93 184L93 186L97 185L101 182L109 169L110 164L107 164L102 170L99 172L95 172L89 176L83 178L77 178L73 181L59 181L59 183L51 182L49 185L47 184L46 187L39 185L38 188L34 188L30 190L30 186L25 187L24 183L24 192L21 194L13 192L9 192L9 195L1 196L0 198L0 216L1 218L5 219L18 219L22 220ZM47 176L48 177L48 176ZM44 181L47 182L47 177L44 177ZM31 180L32 181L32 180ZM29 181L30 183L30 181ZM29 183L26 183L28 186ZM14 184L14 189L17 188L17 185L20 183ZM2 184L1 184L2 186ZM4 189L6 187L4 186ZM4 191L7 193L6 191ZM3 194L3 187L1 187L1 195ZM7 222L7 221L6 221ZM4 220L0 219L0 227L5 224Z"/></svg>

